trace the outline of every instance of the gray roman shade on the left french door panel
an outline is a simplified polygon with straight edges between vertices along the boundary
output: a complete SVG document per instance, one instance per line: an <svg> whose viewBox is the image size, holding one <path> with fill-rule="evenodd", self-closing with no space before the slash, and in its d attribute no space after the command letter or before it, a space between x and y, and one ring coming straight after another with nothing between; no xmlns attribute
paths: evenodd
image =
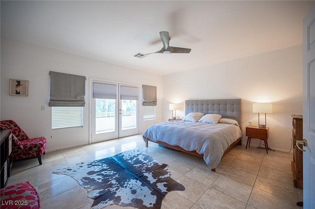
<svg viewBox="0 0 315 209"><path fill-rule="evenodd" d="M117 84L93 83L93 98L117 99Z"/></svg>

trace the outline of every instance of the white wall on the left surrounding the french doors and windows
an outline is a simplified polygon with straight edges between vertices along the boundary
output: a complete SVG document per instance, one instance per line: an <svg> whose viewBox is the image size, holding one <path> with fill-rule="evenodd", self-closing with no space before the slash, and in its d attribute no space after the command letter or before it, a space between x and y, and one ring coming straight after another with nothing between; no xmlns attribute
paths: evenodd
<svg viewBox="0 0 315 209"><path fill-rule="evenodd" d="M49 71L86 76L84 127L51 131ZM29 96L10 96L9 79L29 80ZM89 143L90 78L157 86L157 120L140 119L140 133L162 119L162 77L94 59L1 38L1 120L16 121L30 137L46 136L46 151ZM140 103L142 101L140 88ZM46 110L41 110L41 106ZM140 115L143 115L140 105Z"/></svg>

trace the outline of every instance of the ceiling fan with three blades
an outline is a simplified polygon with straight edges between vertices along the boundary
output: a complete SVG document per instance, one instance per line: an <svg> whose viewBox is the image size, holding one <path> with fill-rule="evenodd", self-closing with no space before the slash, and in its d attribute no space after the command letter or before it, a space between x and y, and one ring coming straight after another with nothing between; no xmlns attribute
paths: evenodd
<svg viewBox="0 0 315 209"><path fill-rule="evenodd" d="M152 52L152 53L164 53L164 54L168 54L168 53L189 53L191 51L191 49L187 49L187 48L180 48L180 47L171 47L169 46L169 41L171 40L171 38L169 37L169 34L167 31L161 31L159 32L159 35L161 37L162 43L163 43L163 48L160 49L158 52ZM135 54L134 56L139 57L139 58L143 58L148 54L152 54L152 53L147 53L147 54Z"/></svg>

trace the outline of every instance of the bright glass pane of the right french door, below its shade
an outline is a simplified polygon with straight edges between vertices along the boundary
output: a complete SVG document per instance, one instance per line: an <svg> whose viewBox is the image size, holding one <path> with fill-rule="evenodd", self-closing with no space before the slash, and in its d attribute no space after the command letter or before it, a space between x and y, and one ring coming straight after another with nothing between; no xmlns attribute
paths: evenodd
<svg viewBox="0 0 315 209"><path fill-rule="evenodd" d="M137 128L137 100L122 100L122 130Z"/></svg>

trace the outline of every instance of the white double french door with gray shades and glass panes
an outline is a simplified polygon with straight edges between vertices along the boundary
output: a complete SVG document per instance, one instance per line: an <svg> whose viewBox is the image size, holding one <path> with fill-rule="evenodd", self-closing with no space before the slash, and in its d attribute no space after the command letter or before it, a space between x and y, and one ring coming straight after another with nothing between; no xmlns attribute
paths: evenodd
<svg viewBox="0 0 315 209"><path fill-rule="evenodd" d="M92 80L92 143L139 134L138 89Z"/></svg>

